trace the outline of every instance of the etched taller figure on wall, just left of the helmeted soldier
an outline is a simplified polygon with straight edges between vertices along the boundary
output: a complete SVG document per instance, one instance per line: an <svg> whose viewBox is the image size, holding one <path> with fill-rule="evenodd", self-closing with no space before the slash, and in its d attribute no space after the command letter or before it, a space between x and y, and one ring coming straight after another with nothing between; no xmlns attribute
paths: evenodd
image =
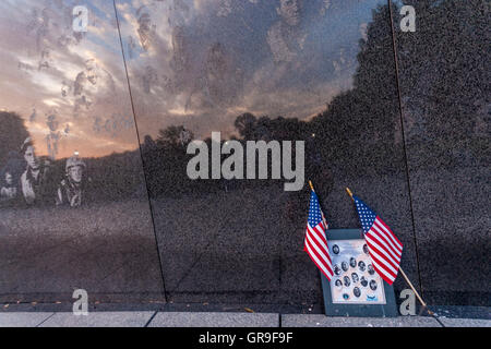
<svg viewBox="0 0 491 349"><path fill-rule="evenodd" d="M21 176L20 189L27 205L46 204L52 201L53 185L50 180L50 163L38 158L31 137L21 147L27 167Z"/></svg>

